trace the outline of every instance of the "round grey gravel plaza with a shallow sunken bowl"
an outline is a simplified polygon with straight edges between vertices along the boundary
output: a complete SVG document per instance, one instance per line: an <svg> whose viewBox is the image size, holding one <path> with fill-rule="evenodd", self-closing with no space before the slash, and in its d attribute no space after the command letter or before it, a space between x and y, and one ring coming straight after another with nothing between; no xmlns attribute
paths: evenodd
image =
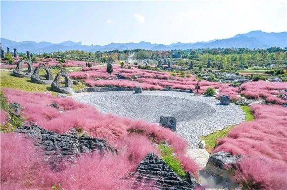
<svg viewBox="0 0 287 190"><path fill-rule="evenodd" d="M175 116L176 131L189 142L191 148L197 147L200 136L228 125L239 124L245 119L245 114L238 105L220 105L220 101L214 97L195 96L186 92L83 92L74 94L73 97L79 102L94 105L103 113L149 122L159 122L160 115Z"/></svg>

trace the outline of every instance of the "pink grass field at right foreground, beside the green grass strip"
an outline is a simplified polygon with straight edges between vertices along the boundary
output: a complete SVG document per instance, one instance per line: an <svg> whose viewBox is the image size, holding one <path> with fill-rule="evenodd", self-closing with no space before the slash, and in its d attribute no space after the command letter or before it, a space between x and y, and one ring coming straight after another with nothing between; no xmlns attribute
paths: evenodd
<svg viewBox="0 0 287 190"><path fill-rule="evenodd" d="M242 184L254 189L286 190L287 108L278 105L251 108L255 120L239 124L228 137L219 140L214 152L245 155L236 172Z"/></svg>

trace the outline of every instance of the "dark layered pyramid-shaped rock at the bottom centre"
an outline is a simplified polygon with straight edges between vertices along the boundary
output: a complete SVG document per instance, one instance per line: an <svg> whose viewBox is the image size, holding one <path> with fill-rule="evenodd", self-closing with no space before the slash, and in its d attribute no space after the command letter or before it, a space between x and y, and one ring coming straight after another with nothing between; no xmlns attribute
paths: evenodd
<svg viewBox="0 0 287 190"><path fill-rule="evenodd" d="M191 174L188 180L182 180L164 160L154 153L148 153L136 172L129 174L134 179L134 190L194 190L199 184ZM147 188L148 187L148 188Z"/></svg>

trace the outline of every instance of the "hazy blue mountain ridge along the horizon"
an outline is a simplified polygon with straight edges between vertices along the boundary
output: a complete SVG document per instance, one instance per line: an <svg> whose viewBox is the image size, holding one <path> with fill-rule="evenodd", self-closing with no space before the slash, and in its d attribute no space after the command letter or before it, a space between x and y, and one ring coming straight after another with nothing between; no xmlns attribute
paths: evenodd
<svg viewBox="0 0 287 190"><path fill-rule="evenodd" d="M266 33L262 31L251 31L246 34L238 34L232 38L214 39L205 42L195 43L172 43L169 45L156 44L141 41L139 43L110 43L107 45L82 45L82 42L64 41L61 43L21 41L16 42L5 38L0 38L2 48L10 47L10 50L16 48L18 52L56 52L68 50L83 51L110 51L110 50L127 50L127 49L148 49L148 50L175 50L175 49L197 49L197 48L261 48L279 46L287 47L287 32Z"/></svg>

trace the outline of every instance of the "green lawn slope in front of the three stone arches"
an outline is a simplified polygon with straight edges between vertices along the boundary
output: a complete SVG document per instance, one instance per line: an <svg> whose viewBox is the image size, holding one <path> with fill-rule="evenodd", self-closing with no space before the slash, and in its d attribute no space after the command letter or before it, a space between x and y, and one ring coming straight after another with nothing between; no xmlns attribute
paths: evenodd
<svg viewBox="0 0 287 190"><path fill-rule="evenodd" d="M19 90L25 90L25 91L32 91L32 92L46 92L50 91L51 94L55 95L56 92L53 92L51 90L50 84L37 84L33 83L30 80L30 77L16 77L12 76L11 72L8 71L1 71L0 72L0 87L1 88L14 88Z"/></svg>

